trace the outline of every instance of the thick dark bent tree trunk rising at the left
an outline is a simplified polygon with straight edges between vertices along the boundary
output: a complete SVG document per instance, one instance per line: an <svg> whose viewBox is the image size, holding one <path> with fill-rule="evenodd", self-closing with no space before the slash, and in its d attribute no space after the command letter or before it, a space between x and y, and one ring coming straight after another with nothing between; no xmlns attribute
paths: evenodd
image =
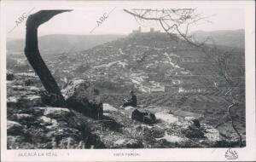
<svg viewBox="0 0 256 162"><path fill-rule="evenodd" d="M25 55L34 71L38 74L45 90L50 94L60 95L61 89L55 81L55 78L49 72L38 49L38 26L50 20L55 14L61 14L70 10L41 10L31 14L26 20L26 47Z"/></svg>

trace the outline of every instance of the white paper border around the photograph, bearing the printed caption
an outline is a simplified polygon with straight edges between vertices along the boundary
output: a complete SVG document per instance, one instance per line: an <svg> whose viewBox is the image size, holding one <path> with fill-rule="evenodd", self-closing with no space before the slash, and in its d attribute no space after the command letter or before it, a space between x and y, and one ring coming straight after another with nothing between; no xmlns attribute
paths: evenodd
<svg viewBox="0 0 256 162"><path fill-rule="evenodd" d="M152 148L152 149L84 149L84 150L7 150L6 134L6 29L5 9L8 6L20 7L20 4L40 6L42 9L81 9L83 5L96 3L113 5L125 8L129 5L134 8L165 8L197 7L209 8L241 8L245 11L245 41L246 41L246 132L247 146L232 148L238 153L235 160L256 160L256 133L255 133L255 3L253 1L124 1L124 2L79 2L79 1L38 1L38 2L1 2L1 159L3 161L196 161L211 160L225 161L224 153L227 148ZM157 5L157 6L156 6ZM126 156L125 153L137 153L137 156ZM19 153L36 153L37 156L19 156ZM38 154L44 153L44 156ZM46 156L51 153L56 156ZM124 156L114 156L114 153L124 153ZM34 154L35 155L35 154Z"/></svg>

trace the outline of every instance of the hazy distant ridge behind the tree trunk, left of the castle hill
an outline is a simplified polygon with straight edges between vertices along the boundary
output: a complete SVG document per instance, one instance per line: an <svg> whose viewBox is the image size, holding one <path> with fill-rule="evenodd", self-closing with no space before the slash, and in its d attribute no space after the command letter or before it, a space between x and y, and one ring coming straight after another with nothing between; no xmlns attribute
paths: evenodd
<svg viewBox="0 0 256 162"><path fill-rule="evenodd" d="M68 52L90 49L102 43L111 42L125 35L68 35L53 34L38 38L39 49L42 51ZM16 39L7 42L7 49L10 51L23 51L25 39Z"/></svg>

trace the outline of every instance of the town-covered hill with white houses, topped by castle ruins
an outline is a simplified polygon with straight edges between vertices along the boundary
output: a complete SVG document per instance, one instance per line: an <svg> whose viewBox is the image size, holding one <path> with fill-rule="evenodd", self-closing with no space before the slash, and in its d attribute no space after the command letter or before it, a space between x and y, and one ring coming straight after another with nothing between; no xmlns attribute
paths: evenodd
<svg viewBox="0 0 256 162"><path fill-rule="evenodd" d="M24 56L8 61L15 65L9 70L32 72ZM114 87L117 92L205 92L197 78L209 75L207 58L201 51L172 41L154 28L142 32L139 27L127 38L82 52L62 53L45 58L45 62L61 84L64 78L86 78L105 89Z"/></svg>

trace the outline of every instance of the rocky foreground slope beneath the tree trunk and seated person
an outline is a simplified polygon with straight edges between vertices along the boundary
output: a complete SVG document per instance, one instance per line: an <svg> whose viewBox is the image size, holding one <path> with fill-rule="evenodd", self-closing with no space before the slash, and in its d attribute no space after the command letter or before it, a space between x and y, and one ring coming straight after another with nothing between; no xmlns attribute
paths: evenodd
<svg viewBox="0 0 256 162"><path fill-rule="evenodd" d="M28 77L10 77L7 83L9 149L238 147L236 138L224 138L212 126L201 124L201 119L177 116L166 107L138 108L154 114L154 124L131 119L133 107L104 103L102 119L52 107L42 100L38 78L24 78ZM78 87L74 92L79 95L83 90Z"/></svg>

